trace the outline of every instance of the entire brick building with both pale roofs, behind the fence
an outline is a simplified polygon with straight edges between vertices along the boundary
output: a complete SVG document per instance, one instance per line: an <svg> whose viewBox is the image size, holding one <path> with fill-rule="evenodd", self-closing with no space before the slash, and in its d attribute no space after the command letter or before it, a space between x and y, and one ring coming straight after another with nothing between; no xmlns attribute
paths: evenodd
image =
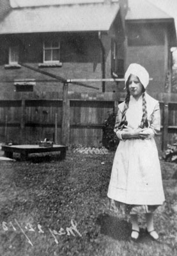
<svg viewBox="0 0 177 256"><path fill-rule="evenodd" d="M71 79L121 78L137 62L153 77L150 92L170 90L174 19L146 0L4 0L0 19L1 81L35 79L36 90L59 90L19 63ZM89 84L100 92L123 90L123 83ZM13 83L4 88L13 90Z"/></svg>

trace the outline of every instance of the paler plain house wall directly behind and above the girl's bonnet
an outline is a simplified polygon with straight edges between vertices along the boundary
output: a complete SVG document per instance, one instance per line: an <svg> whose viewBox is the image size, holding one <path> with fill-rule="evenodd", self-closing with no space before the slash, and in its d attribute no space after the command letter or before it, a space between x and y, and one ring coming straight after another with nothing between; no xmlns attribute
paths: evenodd
<svg viewBox="0 0 177 256"><path fill-rule="evenodd" d="M167 72L164 24L127 24L128 50L127 65L139 63L150 73L148 92L165 92L165 76Z"/></svg>

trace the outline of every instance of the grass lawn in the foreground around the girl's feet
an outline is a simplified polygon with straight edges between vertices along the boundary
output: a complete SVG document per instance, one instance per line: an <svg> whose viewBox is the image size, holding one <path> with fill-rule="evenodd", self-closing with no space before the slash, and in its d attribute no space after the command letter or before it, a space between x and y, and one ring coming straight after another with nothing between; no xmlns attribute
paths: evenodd
<svg viewBox="0 0 177 256"><path fill-rule="evenodd" d="M65 161L1 161L0 255L177 255L176 164L161 162L166 202L155 213L160 243L146 237L143 216L134 243L130 221L107 207L113 157L69 150Z"/></svg>

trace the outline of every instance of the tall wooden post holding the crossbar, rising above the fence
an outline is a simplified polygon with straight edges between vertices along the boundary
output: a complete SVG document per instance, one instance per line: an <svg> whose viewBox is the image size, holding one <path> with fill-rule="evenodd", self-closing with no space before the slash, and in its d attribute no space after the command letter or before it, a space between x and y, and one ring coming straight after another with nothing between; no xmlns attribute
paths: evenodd
<svg viewBox="0 0 177 256"><path fill-rule="evenodd" d="M63 83L63 109L61 123L61 143L66 145L70 138L70 102L68 100L68 83Z"/></svg>

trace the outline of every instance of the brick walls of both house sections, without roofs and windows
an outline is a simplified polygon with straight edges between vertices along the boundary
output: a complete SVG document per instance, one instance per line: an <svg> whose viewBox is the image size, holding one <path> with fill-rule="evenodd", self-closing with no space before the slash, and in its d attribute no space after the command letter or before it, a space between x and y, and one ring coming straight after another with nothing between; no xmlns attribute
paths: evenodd
<svg viewBox="0 0 177 256"><path fill-rule="evenodd" d="M120 17L116 18L109 33L101 35L102 44L105 49L105 77L111 76L111 39L118 42L119 58L125 59L125 70L132 62L137 62L147 68L153 81L148 86L148 91L165 92L165 76L167 73L167 49L168 38L165 34L164 24L134 24L127 23L128 46L123 36ZM119 32L119 36L116 35ZM102 78L102 49L98 33L49 33L33 35L6 35L0 38L0 79L1 81L13 81L13 79L36 79L44 80L36 82L35 91L62 92L63 84L49 83L51 79L33 70L21 67L19 69L4 69L8 63L8 47L12 44L20 45L20 61L32 67L38 68L38 63L43 61L43 40L59 38L61 40L61 63L62 67L39 68L56 74L66 79L72 78ZM125 57L126 56L126 57ZM102 83L85 83L98 88L82 87L70 84L69 90L75 92L101 92ZM105 92L123 92L124 83L105 83ZM13 83L1 83L0 90L14 90Z"/></svg>

